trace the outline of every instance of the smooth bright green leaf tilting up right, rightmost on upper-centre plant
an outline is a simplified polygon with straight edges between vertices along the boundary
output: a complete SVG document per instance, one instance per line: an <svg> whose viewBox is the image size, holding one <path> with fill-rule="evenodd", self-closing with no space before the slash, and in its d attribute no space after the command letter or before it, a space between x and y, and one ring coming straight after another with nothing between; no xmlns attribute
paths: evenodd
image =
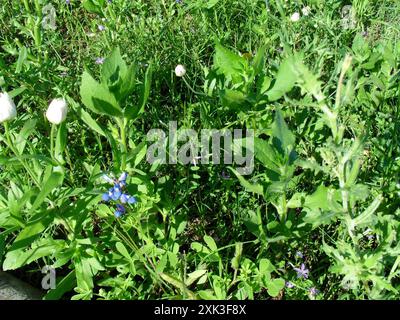
<svg viewBox="0 0 400 320"><path fill-rule="evenodd" d="M293 89L297 80L297 73L294 68L296 60L293 56L286 58L279 67L274 86L267 91L269 101L276 101Z"/></svg>

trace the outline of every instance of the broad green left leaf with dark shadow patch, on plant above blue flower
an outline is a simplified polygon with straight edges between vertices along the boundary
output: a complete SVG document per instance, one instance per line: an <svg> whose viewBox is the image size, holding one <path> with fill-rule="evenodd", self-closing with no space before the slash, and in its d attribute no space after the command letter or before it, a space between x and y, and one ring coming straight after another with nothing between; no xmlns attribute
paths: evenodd
<svg viewBox="0 0 400 320"><path fill-rule="evenodd" d="M122 116L122 110L114 95L104 84L98 83L86 71L82 75L80 94L83 104L93 112L109 116Z"/></svg>

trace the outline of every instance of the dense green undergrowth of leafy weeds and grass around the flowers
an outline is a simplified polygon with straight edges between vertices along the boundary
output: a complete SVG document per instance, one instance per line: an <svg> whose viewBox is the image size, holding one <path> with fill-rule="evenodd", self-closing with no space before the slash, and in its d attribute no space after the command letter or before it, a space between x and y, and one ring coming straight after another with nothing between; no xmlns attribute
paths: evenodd
<svg viewBox="0 0 400 320"><path fill-rule="evenodd" d="M45 299L398 299L399 13L2 0L3 270L53 268ZM169 121L254 130L254 170L149 163Z"/></svg>

